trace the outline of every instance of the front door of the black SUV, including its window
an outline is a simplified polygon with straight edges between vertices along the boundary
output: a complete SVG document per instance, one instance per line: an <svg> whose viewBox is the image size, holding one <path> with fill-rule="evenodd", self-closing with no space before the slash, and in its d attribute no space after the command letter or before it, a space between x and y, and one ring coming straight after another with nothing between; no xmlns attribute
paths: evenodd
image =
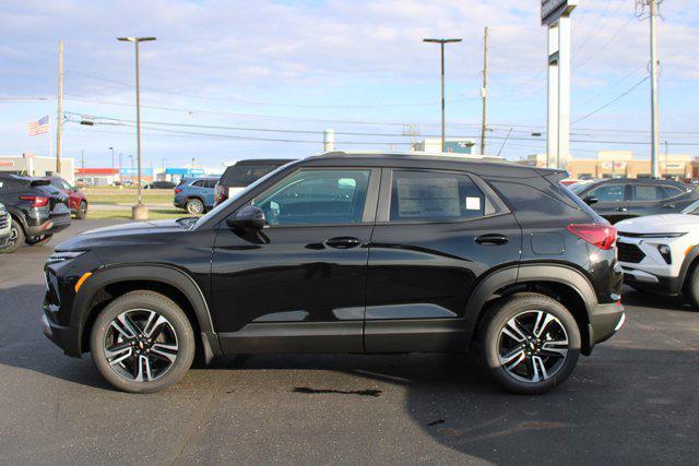
<svg viewBox="0 0 699 466"><path fill-rule="evenodd" d="M252 203L268 227L225 226L212 264L226 353L363 351L368 244L380 170L301 168Z"/></svg>

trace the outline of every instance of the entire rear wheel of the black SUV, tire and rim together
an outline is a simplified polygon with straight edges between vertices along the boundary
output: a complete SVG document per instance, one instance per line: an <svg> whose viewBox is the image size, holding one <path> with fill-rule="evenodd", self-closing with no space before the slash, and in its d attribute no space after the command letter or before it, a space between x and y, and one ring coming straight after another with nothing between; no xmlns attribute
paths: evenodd
<svg viewBox="0 0 699 466"><path fill-rule="evenodd" d="M498 383L535 395L568 379L580 355L580 330L560 302L523 292L487 311L477 343L486 370Z"/></svg>

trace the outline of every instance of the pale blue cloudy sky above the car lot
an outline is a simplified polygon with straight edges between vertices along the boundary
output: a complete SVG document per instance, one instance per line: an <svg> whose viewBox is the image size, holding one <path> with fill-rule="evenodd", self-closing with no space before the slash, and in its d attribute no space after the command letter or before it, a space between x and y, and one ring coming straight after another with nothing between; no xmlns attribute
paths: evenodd
<svg viewBox="0 0 699 466"><path fill-rule="evenodd" d="M580 0L572 13L571 154L650 140L649 21L635 0ZM486 152L545 152L546 37L540 0L4 0L0 155L48 155L64 43L63 157L108 167L135 154L133 45L141 45L144 166L206 167L304 157L335 130L339 150L407 150L440 131L439 46L447 46L447 134L479 141L483 33L489 27ZM699 156L699 4L661 3L661 141ZM92 126L80 121L94 122ZM537 135L540 133L543 135ZM509 133L509 139L508 139ZM663 145L663 150L664 150ZM54 151L54 150L51 150Z"/></svg>

